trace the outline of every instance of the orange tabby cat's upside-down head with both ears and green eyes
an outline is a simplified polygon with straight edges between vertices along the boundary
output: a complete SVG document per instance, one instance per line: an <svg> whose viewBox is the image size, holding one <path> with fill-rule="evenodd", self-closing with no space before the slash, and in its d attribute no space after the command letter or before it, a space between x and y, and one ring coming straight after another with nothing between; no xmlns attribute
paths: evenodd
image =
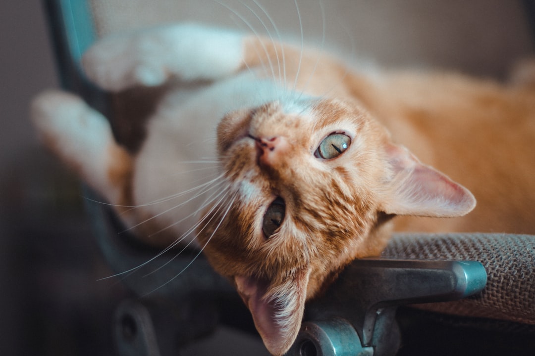
<svg viewBox="0 0 535 356"><path fill-rule="evenodd" d="M385 216L459 216L475 205L351 101L233 112L219 124L218 149L226 198L198 238L273 354L292 345L305 300L354 258L385 247Z"/></svg>

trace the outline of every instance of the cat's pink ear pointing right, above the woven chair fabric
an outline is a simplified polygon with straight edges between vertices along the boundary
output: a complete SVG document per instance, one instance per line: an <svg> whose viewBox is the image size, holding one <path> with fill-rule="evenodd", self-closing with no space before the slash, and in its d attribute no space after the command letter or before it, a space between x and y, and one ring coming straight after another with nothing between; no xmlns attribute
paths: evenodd
<svg viewBox="0 0 535 356"><path fill-rule="evenodd" d="M383 201L386 213L455 217L476 206L476 199L467 188L422 164L405 147L389 144L386 156L392 168Z"/></svg>

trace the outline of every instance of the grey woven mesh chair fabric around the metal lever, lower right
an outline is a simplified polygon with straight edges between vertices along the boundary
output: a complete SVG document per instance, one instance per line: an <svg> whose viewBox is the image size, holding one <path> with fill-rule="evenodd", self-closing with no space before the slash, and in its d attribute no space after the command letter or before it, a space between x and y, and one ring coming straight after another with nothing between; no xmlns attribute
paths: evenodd
<svg viewBox="0 0 535 356"><path fill-rule="evenodd" d="M427 310L535 325L535 236L508 234L397 235L387 258L477 260L485 266L481 295L427 304Z"/></svg>

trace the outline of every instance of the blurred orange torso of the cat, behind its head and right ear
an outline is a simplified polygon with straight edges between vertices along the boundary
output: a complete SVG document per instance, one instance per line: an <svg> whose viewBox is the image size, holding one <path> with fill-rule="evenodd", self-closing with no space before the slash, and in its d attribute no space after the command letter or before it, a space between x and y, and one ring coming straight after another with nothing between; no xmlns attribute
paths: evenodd
<svg viewBox="0 0 535 356"><path fill-rule="evenodd" d="M463 217L400 217L396 230L533 233L534 89L529 82L398 72L357 92L395 142L477 199Z"/></svg>

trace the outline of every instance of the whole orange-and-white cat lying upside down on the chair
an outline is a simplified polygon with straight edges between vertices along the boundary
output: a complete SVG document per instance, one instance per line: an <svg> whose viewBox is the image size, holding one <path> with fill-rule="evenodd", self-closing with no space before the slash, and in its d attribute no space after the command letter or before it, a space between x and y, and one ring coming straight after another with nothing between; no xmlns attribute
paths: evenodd
<svg viewBox="0 0 535 356"><path fill-rule="evenodd" d="M396 218L399 229L535 233L533 86L356 74L323 53L192 25L106 39L85 69L114 91L181 80L136 155L70 94L37 99L35 121L140 239L196 238L274 354L295 339L305 300L380 253L392 216L473 209L467 189L399 144L479 201L466 217Z"/></svg>

